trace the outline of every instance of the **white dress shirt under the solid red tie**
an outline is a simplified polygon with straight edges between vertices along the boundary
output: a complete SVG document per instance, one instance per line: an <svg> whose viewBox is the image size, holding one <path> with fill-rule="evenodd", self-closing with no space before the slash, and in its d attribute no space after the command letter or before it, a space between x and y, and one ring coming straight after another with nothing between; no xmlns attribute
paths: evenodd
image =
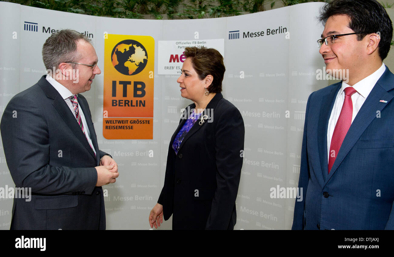
<svg viewBox="0 0 394 257"><path fill-rule="evenodd" d="M353 88L356 89L356 93L351 96L351 101L353 103L353 116L351 117L351 122L353 123L354 118L359 113L359 110L364 104L365 99L368 97L369 93L371 93L372 88L374 88L376 82L385 72L386 67L385 64L382 63L382 66L377 69L374 73L369 75L368 77L360 80L356 84L353 85ZM336 99L334 102L333 110L331 111L331 116L328 121L328 130L327 130L327 160L330 156L330 145L331 139L333 138L333 133L335 129L336 122L338 121L339 115L342 110L342 105L345 101L345 88L350 87L348 84L342 81L342 87L339 89L338 94L336 95Z"/></svg>

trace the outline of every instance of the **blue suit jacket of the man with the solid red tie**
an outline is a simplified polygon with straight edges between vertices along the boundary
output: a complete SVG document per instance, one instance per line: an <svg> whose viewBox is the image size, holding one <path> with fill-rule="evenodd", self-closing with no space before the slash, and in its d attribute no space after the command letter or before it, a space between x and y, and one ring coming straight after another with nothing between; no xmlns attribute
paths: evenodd
<svg viewBox="0 0 394 257"><path fill-rule="evenodd" d="M394 229L394 75L355 117L328 173L327 128L341 82L309 96L292 229ZM380 102L384 100L387 102Z"/></svg>

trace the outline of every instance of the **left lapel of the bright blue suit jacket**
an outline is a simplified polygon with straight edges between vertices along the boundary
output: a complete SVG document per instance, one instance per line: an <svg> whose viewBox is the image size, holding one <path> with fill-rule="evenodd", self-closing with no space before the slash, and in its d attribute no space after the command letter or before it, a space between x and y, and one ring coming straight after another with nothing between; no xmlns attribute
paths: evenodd
<svg viewBox="0 0 394 257"><path fill-rule="evenodd" d="M342 83L334 84L332 90L322 98L322 108L320 108L319 124L318 124L318 147L320 166L322 167L322 181L325 181L328 174L328 156L327 156L327 131L328 121L333 110L336 95L341 88ZM317 172L319 173L319 172ZM320 176L320 174L318 174Z"/></svg>

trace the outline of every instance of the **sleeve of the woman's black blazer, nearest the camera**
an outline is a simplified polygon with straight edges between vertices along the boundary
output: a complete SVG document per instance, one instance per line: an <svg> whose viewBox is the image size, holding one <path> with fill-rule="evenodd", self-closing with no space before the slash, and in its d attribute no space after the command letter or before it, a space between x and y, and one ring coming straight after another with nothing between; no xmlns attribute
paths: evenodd
<svg viewBox="0 0 394 257"><path fill-rule="evenodd" d="M218 117L215 129L216 183L206 229L227 229L240 184L245 126L236 108ZM242 150L242 151L241 151Z"/></svg>

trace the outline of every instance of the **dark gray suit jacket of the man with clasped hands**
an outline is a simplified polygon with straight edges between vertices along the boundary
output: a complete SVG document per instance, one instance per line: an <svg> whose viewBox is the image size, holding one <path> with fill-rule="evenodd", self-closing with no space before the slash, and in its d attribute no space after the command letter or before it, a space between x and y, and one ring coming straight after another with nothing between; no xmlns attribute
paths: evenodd
<svg viewBox="0 0 394 257"><path fill-rule="evenodd" d="M11 229L105 229L104 198L96 187L100 158L89 105L78 94L97 156L69 106L43 76L9 101L1 120L7 165L16 187Z"/></svg>

